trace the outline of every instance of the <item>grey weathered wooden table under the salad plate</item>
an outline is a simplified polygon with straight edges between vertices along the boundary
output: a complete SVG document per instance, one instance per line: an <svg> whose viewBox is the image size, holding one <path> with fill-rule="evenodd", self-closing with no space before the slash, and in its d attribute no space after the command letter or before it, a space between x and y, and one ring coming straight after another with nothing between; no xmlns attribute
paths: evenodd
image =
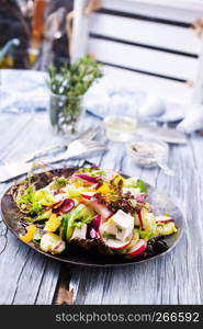
<svg viewBox="0 0 203 329"><path fill-rule="evenodd" d="M57 140L41 115L0 114L0 159L7 160ZM100 124L90 116L87 126ZM117 269L68 268L23 246L0 218L0 304L203 304L203 139L170 148L174 177L142 170L124 145L89 158L102 168L139 177L170 195L185 216L185 232L166 257ZM81 161L81 160L80 160ZM67 166L80 161L68 161ZM0 193L10 184L0 184Z"/></svg>

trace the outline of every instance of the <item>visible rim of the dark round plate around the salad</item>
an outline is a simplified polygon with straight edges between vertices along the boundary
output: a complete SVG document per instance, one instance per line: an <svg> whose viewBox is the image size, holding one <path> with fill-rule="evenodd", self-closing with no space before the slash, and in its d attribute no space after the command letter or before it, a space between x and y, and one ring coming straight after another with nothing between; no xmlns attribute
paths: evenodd
<svg viewBox="0 0 203 329"><path fill-rule="evenodd" d="M70 174L72 174L72 172L76 169L77 168L57 169L57 170L52 170L50 172L58 177L60 175L69 177ZM43 172L37 173L34 177L34 180L37 181L38 188L43 188L45 184L49 182L50 179L52 179L50 175L47 175ZM66 262L71 265L83 265L83 266L123 266L123 265L145 262L149 259L155 259L157 257L160 257L161 254L166 254L167 252L171 251L172 248L174 248L174 246L177 245L177 242L180 240L182 236L183 216L179 211L179 208L166 195L159 193L158 191L155 190L155 188L150 185L147 185L147 188L149 194L148 202L150 203L155 214L158 215L158 214L170 213L171 216L176 219L176 225L178 228L178 231L176 234L165 238L165 241L168 245L168 250L161 253L158 253L156 256L146 259L134 258L132 260L127 260L121 256L120 257L102 256L97 250L87 251L76 245L69 247L67 252L64 252L63 254L59 256L45 253L41 251L33 243L30 243L29 246L34 250L36 250L37 252L41 252L44 256L49 257L52 259ZM11 230L12 234L14 234L19 238L19 235L22 232L23 228L19 222L19 211L15 206L15 203L13 202L12 197L8 195L9 190L4 193L4 195L1 198L1 212L3 216L3 220L8 226L8 228Z"/></svg>

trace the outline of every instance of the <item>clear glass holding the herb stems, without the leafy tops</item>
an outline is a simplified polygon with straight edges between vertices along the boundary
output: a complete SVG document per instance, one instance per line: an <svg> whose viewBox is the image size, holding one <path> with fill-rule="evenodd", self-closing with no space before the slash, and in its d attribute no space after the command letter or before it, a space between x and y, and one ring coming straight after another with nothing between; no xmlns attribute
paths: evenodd
<svg viewBox="0 0 203 329"><path fill-rule="evenodd" d="M50 93L49 121L58 135L77 133L83 113L83 97L66 97Z"/></svg>

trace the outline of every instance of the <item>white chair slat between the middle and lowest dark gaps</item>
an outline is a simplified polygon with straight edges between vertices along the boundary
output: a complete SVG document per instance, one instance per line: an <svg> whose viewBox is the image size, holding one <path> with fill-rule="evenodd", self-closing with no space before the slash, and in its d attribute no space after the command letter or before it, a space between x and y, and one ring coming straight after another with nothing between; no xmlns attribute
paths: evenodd
<svg viewBox="0 0 203 329"><path fill-rule="evenodd" d="M89 54L93 54L98 60L111 65L183 80L194 80L198 73L198 59L195 58L97 37L91 37L88 45ZM144 89L144 86L142 88Z"/></svg>

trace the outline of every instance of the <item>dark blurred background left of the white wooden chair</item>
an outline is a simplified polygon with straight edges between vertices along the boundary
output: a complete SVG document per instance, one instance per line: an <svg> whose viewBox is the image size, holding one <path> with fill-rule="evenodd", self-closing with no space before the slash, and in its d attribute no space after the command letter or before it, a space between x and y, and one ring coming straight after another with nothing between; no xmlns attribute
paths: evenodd
<svg viewBox="0 0 203 329"><path fill-rule="evenodd" d="M69 60L65 21L74 0L0 2L0 68L46 69Z"/></svg>

